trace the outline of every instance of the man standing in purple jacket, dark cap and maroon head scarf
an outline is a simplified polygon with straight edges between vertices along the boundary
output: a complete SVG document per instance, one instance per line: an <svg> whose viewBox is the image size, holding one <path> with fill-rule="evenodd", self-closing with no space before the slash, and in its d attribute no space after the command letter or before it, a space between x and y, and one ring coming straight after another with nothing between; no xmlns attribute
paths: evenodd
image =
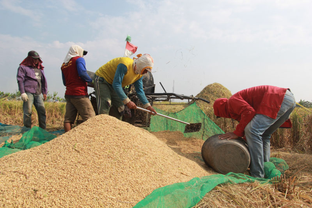
<svg viewBox="0 0 312 208"><path fill-rule="evenodd" d="M39 127L46 128L46 109L43 101L46 100L48 89L43 68L39 54L36 51L30 51L17 69L18 90L21 92L23 101L23 122L28 128L32 127L32 104L37 110Z"/></svg>

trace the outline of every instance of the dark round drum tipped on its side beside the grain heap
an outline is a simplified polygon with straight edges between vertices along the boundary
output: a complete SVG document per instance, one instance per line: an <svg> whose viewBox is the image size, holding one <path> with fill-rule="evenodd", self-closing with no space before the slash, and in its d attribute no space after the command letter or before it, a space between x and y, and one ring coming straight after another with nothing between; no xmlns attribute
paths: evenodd
<svg viewBox="0 0 312 208"><path fill-rule="evenodd" d="M250 164L246 142L243 139L221 140L219 135L211 136L204 142L202 159L219 173L244 173Z"/></svg>

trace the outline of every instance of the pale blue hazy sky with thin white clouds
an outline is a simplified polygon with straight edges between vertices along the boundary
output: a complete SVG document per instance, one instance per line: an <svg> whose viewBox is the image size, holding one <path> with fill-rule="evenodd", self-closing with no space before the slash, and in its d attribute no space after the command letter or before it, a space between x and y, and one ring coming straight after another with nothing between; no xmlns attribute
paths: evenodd
<svg viewBox="0 0 312 208"><path fill-rule="evenodd" d="M88 71L124 56L125 39L154 59L155 92L196 96L214 82L232 94L290 88L312 101L312 1L0 0L0 91L17 92L17 68L35 50L50 94L63 97L61 65L73 44ZM88 92L93 89L88 87Z"/></svg>

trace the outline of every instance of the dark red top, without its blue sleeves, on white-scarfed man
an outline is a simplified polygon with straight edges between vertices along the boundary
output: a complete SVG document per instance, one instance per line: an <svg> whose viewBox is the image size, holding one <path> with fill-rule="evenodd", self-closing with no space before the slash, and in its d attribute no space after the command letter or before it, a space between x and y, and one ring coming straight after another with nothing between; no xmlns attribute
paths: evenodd
<svg viewBox="0 0 312 208"><path fill-rule="evenodd" d="M62 64L61 70L65 77L66 92L65 95L87 96L87 82L83 81L77 71L76 60L79 56L71 58L67 65Z"/></svg>

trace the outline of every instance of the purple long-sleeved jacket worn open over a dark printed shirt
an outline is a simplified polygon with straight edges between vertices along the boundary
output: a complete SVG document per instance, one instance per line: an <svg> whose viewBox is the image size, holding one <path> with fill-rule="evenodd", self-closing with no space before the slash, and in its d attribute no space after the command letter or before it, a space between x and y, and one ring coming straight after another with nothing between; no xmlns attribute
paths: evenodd
<svg viewBox="0 0 312 208"><path fill-rule="evenodd" d="M47 94L48 86L43 70L41 70L41 88L42 94ZM19 66L17 69L17 84L18 90L22 93L30 92L36 93L38 81L36 79L35 71L31 66Z"/></svg>

